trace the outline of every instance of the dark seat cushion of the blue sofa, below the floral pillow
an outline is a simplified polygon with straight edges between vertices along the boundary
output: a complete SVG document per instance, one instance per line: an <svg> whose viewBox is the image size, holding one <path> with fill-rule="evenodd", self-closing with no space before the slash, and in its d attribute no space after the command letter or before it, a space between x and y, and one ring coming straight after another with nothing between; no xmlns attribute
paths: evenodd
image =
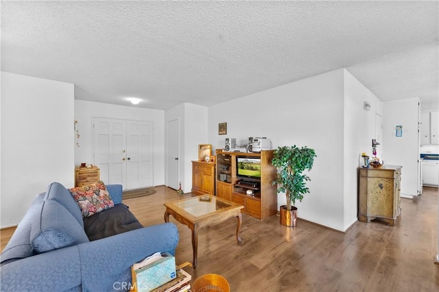
<svg viewBox="0 0 439 292"><path fill-rule="evenodd" d="M142 227L125 204L115 204L111 209L84 218L85 233L90 241Z"/></svg>

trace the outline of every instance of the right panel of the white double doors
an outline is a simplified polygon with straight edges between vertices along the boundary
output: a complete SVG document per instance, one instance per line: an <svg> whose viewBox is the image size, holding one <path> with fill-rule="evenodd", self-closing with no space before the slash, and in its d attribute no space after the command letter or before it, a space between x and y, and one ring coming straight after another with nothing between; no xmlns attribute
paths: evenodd
<svg viewBox="0 0 439 292"><path fill-rule="evenodd" d="M128 189L153 185L152 131L152 122L127 121L126 185Z"/></svg>

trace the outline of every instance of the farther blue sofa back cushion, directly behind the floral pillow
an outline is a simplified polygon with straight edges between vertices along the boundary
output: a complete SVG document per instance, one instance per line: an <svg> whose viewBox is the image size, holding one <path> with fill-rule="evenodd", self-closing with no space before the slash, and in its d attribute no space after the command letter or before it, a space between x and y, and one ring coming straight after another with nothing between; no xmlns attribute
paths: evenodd
<svg viewBox="0 0 439 292"><path fill-rule="evenodd" d="M56 182L51 183L49 187L47 187L45 200L56 200L56 202L62 204L62 206L69 210L73 217L76 218L76 221L84 227L81 209L78 207L75 199L71 196L70 191L64 187L64 185Z"/></svg>

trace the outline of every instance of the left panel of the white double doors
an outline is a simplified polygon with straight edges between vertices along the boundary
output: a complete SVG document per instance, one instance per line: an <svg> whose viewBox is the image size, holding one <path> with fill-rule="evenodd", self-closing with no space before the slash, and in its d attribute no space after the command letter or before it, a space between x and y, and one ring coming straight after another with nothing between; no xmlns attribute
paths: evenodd
<svg viewBox="0 0 439 292"><path fill-rule="evenodd" d="M126 185L126 121L93 119L93 161L104 183Z"/></svg>

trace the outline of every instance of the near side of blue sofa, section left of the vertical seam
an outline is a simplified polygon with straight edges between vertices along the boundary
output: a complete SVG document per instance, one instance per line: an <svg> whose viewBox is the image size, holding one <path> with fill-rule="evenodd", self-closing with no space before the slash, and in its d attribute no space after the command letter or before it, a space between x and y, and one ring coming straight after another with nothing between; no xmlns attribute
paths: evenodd
<svg viewBox="0 0 439 292"><path fill-rule="evenodd" d="M81 291L78 245L2 265L1 291Z"/></svg>

